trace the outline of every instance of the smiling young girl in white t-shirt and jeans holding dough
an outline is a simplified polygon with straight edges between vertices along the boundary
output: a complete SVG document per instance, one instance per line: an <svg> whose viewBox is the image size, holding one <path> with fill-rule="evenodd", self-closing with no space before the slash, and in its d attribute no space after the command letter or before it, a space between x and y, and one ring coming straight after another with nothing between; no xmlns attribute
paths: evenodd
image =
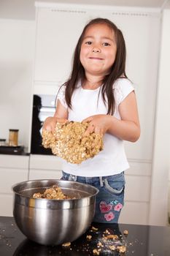
<svg viewBox="0 0 170 256"><path fill-rule="evenodd" d="M55 115L44 129L54 131L57 121L89 121L90 132L104 135L104 150L80 165L63 160L63 180L99 189L94 222L117 223L123 208L128 169L123 140L140 135L134 87L125 75L125 41L114 23L91 20L74 51L72 74L57 95Z"/></svg>

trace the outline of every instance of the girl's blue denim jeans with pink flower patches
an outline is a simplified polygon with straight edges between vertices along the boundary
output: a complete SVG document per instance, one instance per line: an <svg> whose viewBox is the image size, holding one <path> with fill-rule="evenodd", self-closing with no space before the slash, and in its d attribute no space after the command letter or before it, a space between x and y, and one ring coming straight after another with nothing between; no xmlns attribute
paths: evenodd
<svg viewBox="0 0 170 256"><path fill-rule="evenodd" d="M102 177L73 176L63 172L61 180L77 181L96 187L96 211L93 222L117 223L124 205L124 172Z"/></svg>

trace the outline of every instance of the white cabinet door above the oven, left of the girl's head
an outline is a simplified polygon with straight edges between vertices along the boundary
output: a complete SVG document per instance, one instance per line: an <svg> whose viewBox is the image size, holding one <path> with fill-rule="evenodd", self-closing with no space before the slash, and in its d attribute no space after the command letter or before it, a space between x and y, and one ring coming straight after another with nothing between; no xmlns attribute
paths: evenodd
<svg viewBox="0 0 170 256"><path fill-rule="evenodd" d="M35 82L68 78L72 54L86 20L86 12L37 8Z"/></svg>

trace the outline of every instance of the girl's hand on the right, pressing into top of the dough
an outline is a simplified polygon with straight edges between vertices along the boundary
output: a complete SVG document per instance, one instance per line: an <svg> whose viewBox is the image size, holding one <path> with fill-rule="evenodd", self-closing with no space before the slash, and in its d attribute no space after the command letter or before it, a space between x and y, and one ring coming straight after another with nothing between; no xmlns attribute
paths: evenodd
<svg viewBox="0 0 170 256"><path fill-rule="evenodd" d="M104 135L109 129L109 116L107 115L95 115L85 118L82 122L89 122L90 125L85 132L85 136L92 132Z"/></svg>

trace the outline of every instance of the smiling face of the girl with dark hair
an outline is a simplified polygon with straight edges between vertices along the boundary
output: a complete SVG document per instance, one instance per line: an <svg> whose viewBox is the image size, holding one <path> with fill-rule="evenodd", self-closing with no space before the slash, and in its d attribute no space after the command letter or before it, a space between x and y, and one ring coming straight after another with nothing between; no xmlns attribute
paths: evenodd
<svg viewBox="0 0 170 256"><path fill-rule="evenodd" d="M107 75L115 61L115 32L106 24L93 24L85 31L80 61L86 75Z"/></svg>

